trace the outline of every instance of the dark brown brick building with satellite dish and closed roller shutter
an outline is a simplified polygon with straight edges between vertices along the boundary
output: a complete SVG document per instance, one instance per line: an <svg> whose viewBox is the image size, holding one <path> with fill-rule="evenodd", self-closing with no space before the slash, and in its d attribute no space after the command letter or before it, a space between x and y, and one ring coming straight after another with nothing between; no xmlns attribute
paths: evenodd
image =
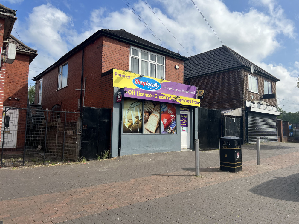
<svg viewBox="0 0 299 224"><path fill-rule="evenodd" d="M277 141L277 81L225 45L189 57L184 65L184 83L204 90L201 107L221 110L223 135L239 133L244 143L256 137Z"/></svg>

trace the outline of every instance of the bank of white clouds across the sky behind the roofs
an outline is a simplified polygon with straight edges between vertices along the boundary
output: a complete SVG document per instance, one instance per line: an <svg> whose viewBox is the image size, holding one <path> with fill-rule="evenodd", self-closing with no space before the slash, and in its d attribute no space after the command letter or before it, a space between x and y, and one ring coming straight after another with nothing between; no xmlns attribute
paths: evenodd
<svg viewBox="0 0 299 224"><path fill-rule="evenodd" d="M157 1L162 8L151 6L152 10L190 55L222 46L190 0ZM221 0L194 0L194 2L225 45L280 79L277 82L277 94L294 96L296 91L298 93L294 84L295 77L299 74L298 62L294 62L294 66L291 68L274 63L270 65L263 63L263 59L284 47L278 36L283 35L285 38L294 39L297 35L294 31L294 23L286 19L283 8L277 5L276 1L252 0L253 5L260 4L265 7L265 11L258 11L252 7L247 12L232 12ZM179 52L182 55L190 56L144 1L138 1L131 5L170 50L178 52L180 49ZM19 28L25 27L22 29L25 35L22 36L26 36L26 39L23 41L31 43L30 46L39 49L40 55L54 58L60 58L102 28L123 28L129 33L161 45L129 8L115 12L109 12L104 7L94 9L89 18L84 21L84 30L81 31L74 29L71 17L51 4L35 7L26 22L28 27L25 23L18 24L18 21L16 23ZM38 56L31 66L37 64L35 67L48 67L54 61L56 60ZM35 75L37 74L35 73ZM297 101L299 102L299 99Z"/></svg>

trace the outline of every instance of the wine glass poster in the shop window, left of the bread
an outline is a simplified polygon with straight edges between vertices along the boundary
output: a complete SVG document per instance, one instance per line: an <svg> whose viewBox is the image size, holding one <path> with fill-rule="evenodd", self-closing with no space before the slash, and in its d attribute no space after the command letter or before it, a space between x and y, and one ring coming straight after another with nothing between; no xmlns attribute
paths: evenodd
<svg viewBox="0 0 299 224"><path fill-rule="evenodd" d="M142 133L142 101L125 99L123 104L123 133Z"/></svg>

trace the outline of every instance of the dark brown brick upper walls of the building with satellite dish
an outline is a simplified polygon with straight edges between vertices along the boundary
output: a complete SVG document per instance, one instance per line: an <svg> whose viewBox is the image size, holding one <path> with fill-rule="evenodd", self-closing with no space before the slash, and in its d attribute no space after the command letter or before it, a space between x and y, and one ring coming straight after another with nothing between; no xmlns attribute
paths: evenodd
<svg viewBox="0 0 299 224"><path fill-rule="evenodd" d="M184 83L204 90L204 99L200 102L200 106L204 108L239 108L245 106L246 100L263 100L271 106L275 106L276 99L262 99L262 95L264 94L264 79L272 83L272 93L276 93L276 82L254 74L258 78L258 93L254 93L248 90L248 73L247 70L238 69L186 79ZM251 95L254 96L253 99L251 99Z"/></svg>

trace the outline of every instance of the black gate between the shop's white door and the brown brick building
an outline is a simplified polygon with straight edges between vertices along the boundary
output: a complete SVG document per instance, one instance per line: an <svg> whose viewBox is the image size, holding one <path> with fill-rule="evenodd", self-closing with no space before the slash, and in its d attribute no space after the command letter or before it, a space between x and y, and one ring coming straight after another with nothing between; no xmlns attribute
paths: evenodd
<svg viewBox="0 0 299 224"><path fill-rule="evenodd" d="M198 108L198 138L200 149L219 148L221 111Z"/></svg>

